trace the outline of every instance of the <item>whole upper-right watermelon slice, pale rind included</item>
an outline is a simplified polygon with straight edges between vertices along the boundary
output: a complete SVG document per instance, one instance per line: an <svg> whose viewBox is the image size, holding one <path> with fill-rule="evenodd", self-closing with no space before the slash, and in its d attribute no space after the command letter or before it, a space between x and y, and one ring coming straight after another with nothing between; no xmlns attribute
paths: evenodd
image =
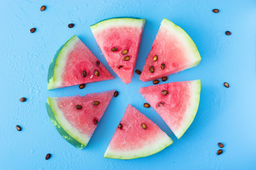
<svg viewBox="0 0 256 170"><path fill-rule="evenodd" d="M139 79L160 79L196 67L200 61L198 49L189 35L179 26L164 19Z"/></svg>

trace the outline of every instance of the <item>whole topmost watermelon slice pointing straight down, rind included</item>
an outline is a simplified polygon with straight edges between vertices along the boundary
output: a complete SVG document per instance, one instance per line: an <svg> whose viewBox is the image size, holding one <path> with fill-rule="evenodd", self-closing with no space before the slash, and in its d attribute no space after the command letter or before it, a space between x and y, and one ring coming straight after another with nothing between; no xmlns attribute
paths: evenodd
<svg viewBox="0 0 256 170"><path fill-rule="evenodd" d="M108 64L125 84L132 81L145 22L112 18L90 26Z"/></svg>

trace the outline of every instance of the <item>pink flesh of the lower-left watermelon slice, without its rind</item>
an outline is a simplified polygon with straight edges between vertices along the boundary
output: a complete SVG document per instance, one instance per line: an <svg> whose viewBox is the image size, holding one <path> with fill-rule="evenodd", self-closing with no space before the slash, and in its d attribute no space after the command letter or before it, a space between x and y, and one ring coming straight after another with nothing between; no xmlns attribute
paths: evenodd
<svg viewBox="0 0 256 170"><path fill-rule="evenodd" d="M57 98L58 108L73 128L91 137L97 127L95 120L100 121L113 94L114 90L87 94L86 96L60 97ZM100 104L94 106L93 101L100 101ZM82 109L78 110L75 108L76 105L82 106Z"/></svg>

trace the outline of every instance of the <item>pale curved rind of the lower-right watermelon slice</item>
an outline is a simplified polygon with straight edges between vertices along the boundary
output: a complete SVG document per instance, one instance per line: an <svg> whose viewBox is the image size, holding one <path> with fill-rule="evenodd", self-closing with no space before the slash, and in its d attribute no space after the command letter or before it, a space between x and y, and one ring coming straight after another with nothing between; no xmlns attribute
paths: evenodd
<svg viewBox="0 0 256 170"><path fill-rule="evenodd" d="M183 119L181 120L181 128L176 130L174 134L178 139L186 132L188 127L193 122L196 112L198 110L199 101L200 101L200 92L201 92L201 81L200 79L191 81L191 98L188 108L186 109L186 113L183 116Z"/></svg>

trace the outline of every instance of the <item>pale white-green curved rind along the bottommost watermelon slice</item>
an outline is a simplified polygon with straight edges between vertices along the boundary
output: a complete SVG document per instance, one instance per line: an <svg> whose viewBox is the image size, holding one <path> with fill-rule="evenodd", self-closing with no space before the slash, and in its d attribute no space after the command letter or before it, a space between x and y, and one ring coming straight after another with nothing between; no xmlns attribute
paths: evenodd
<svg viewBox="0 0 256 170"><path fill-rule="evenodd" d="M151 141L151 144L145 143L144 147L139 149L132 149L132 150L117 150L117 149L110 149L107 147L107 150L104 154L106 158L112 159L135 159L139 157L147 157L151 154L156 154L160 152L162 149L168 147L173 143L173 140L166 135L165 132L159 133L158 137L155 137L156 140Z"/></svg>

